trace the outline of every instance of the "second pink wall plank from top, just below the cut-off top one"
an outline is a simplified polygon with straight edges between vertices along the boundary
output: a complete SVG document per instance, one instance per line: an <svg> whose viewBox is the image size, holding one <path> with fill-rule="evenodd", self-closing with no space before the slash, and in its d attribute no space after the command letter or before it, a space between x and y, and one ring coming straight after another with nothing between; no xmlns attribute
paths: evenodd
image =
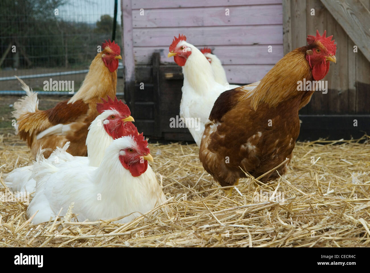
<svg viewBox="0 0 370 273"><path fill-rule="evenodd" d="M144 15L132 11L132 24L137 27L203 27L245 26L283 23L281 4L262 6L238 6L229 8L229 16L223 7L148 9Z"/></svg>

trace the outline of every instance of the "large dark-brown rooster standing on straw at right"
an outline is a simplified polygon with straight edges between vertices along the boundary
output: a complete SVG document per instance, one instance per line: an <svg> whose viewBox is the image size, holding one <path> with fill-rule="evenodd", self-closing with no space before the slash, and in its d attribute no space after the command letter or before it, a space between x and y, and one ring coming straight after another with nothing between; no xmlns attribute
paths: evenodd
<svg viewBox="0 0 370 273"><path fill-rule="evenodd" d="M309 35L307 46L286 54L254 89L241 86L218 97L205 125L199 159L221 186L237 185L245 177L243 171L258 177L288 158L277 168L280 175L285 173L299 135L298 111L314 92L299 91L298 83L322 80L329 61L336 63L332 37L326 37L326 31L323 36L319 31L316 37ZM260 181L277 176L273 171Z"/></svg>

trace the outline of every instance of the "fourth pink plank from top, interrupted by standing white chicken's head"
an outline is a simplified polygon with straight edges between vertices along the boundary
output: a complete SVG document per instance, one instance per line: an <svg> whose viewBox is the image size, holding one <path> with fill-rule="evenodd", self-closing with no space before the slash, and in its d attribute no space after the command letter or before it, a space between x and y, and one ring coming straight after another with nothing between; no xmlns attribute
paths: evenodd
<svg viewBox="0 0 370 273"><path fill-rule="evenodd" d="M209 46L209 45L208 45ZM202 48L203 45L198 48ZM272 45L272 53L268 46L209 46L223 64L275 64L283 57L283 45ZM151 64L152 53L160 51L161 63L173 62L167 58L167 47L134 47L136 64Z"/></svg>

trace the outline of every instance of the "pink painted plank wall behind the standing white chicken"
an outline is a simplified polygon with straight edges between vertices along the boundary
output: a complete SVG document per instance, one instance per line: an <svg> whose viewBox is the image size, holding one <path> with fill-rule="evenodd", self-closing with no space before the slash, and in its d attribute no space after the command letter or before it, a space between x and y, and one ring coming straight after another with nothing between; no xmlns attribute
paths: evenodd
<svg viewBox="0 0 370 273"><path fill-rule="evenodd" d="M167 58L168 47L179 33L198 48L211 47L222 61L230 83L258 81L283 57L281 0L123 0L123 3L129 1L132 26L124 25L124 31L132 35L135 65L151 64L154 51L161 52L161 63L173 63L173 58ZM143 16L140 9L144 9ZM225 9L229 9L229 16ZM125 26L132 27L132 34ZM268 46L272 46L272 53Z"/></svg>

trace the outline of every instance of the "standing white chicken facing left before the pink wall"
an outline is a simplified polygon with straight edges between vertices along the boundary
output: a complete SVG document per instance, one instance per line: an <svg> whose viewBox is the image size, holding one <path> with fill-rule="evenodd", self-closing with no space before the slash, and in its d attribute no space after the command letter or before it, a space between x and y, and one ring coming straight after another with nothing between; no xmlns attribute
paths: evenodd
<svg viewBox="0 0 370 273"><path fill-rule="evenodd" d="M172 56L184 74L180 117L199 146L213 104L227 89L215 81L209 61L198 48L186 43L184 35L179 34L169 46L168 57Z"/></svg>

